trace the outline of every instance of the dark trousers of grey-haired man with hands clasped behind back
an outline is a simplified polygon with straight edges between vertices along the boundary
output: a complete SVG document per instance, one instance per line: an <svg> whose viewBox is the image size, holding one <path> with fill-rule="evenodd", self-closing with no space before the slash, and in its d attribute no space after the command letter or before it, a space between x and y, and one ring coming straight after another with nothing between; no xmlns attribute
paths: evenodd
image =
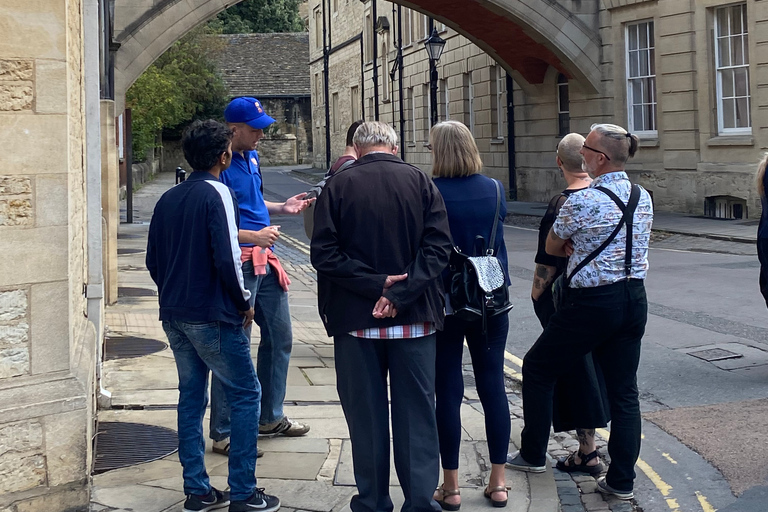
<svg viewBox="0 0 768 512"><path fill-rule="evenodd" d="M336 383L349 427L358 495L352 512L391 512L389 403L402 512L438 512L432 499L440 472L435 421L435 335L372 340L334 337Z"/></svg>

